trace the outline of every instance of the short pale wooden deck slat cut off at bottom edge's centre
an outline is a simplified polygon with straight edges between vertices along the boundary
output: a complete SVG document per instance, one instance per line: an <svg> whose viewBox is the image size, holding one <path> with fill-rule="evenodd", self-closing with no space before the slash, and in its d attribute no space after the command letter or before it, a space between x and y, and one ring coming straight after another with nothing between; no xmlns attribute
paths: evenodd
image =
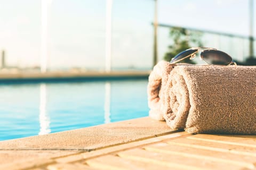
<svg viewBox="0 0 256 170"><path fill-rule="evenodd" d="M151 163L137 162L131 159L125 159L118 156L107 155L101 156L94 159L89 159L86 164L90 167L99 169L110 169L110 170L126 170L126 169L138 169L138 170L154 170L154 169L166 169L165 166L158 166Z"/></svg>

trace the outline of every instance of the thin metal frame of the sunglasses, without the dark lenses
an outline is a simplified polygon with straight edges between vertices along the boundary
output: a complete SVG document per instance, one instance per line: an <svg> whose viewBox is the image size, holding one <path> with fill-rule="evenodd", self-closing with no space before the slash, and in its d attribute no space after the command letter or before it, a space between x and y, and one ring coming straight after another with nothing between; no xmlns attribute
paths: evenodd
<svg viewBox="0 0 256 170"><path fill-rule="evenodd" d="M175 61L175 62L172 62L172 60L175 58L175 57L177 57L177 55L175 56L175 57L173 57L172 58L172 60L170 61L170 64L176 64L176 63L178 63L178 62L180 62L180 61L182 61L182 60L184 60L184 59L186 59L186 58L188 58L188 57L190 57L190 60L193 60L195 57L196 57L196 53L198 53L198 52L201 52L200 53L200 57L201 57L201 59L205 62L205 63L207 63L205 60L204 60L204 57L202 56L202 53L203 52L205 52L206 50L217 50L218 52L221 52L220 50L218 50L218 49L216 49L216 48L208 48L208 47L192 47L192 48L189 48L189 49L186 49L186 50L195 50L196 49L196 51L195 52L193 52L193 53L191 53L191 54L189 54L189 55L187 55L187 56L185 56L185 57L183 57L183 58L180 58L179 60L177 60L177 61ZM186 50L184 50L183 52L186 52ZM221 53L224 53L224 52L221 52ZM231 57L231 56L229 56L227 53L224 53L224 54L226 54L228 57L230 57L231 58L231 62L228 64L228 65L237 65L236 64L236 62L233 60L233 58ZM207 63L207 64L209 64L209 65L215 65L215 64L211 64L211 63ZM227 66L228 66L227 65Z"/></svg>

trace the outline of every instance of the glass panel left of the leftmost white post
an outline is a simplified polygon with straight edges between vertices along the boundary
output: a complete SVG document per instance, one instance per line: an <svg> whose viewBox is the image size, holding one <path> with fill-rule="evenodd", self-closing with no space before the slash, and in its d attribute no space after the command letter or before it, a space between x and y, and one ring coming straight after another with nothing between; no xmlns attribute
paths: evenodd
<svg viewBox="0 0 256 170"><path fill-rule="evenodd" d="M40 11L39 0L0 1L0 58L4 50L5 69L39 66Z"/></svg>

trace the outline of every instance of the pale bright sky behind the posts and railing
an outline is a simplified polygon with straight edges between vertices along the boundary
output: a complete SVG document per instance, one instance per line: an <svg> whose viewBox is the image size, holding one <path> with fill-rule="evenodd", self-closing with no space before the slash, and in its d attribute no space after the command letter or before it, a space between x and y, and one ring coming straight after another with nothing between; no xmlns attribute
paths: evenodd
<svg viewBox="0 0 256 170"><path fill-rule="evenodd" d="M42 0L43 1L43 0ZM249 1L158 0L158 21L197 29L249 35ZM255 2L254 2L255 9ZM49 68L105 66L106 0L52 0L48 18ZM153 0L113 0L113 67L151 67ZM254 20L255 12L254 12ZM254 37L256 27L254 23ZM216 39L216 38L213 38ZM216 41L207 39L207 42ZM223 41L224 42L224 41ZM158 59L170 45L169 29L158 29ZM221 49L239 47L219 44ZM243 45L246 49L246 45ZM41 0L0 0L0 50L8 65L40 64Z"/></svg>

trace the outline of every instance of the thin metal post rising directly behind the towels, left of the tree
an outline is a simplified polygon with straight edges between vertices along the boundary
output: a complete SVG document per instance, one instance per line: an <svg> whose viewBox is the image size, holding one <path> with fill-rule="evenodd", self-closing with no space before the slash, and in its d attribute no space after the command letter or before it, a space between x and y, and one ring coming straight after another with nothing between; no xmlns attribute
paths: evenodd
<svg viewBox="0 0 256 170"><path fill-rule="evenodd" d="M155 15L154 15L154 58L153 58L153 67L157 63L157 0L155 0Z"/></svg>

